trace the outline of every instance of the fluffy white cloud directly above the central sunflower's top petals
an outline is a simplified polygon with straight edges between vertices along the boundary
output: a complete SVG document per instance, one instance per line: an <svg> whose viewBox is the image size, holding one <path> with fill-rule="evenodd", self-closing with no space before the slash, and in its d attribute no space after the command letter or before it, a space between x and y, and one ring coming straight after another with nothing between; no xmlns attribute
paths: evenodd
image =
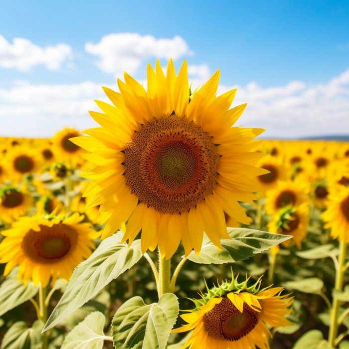
<svg viewBox="0 0 349 349"><path fill-rule="evenodd" d="M176 60L191 54L187 43L180 36L173 39L157 39L152 35L116 33L102 37L97 44L87 42L85 50L99 57L96 65L106 73L122 77L124 71L134 74L144 59L149 57Z"/></svg>

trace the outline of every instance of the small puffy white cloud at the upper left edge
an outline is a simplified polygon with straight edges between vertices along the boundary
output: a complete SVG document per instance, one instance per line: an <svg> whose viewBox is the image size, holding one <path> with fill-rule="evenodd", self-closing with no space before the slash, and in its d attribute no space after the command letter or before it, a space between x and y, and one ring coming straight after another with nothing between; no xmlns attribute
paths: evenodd
<svg viewBox="0 0 349 349"><path fill-rule="evenodd" d="M33 66L43 64L49 70L59 70L63 63L72 58L72 49L66 44L59 43L42 48L20 37L15 37L11 44L0 35L2 68L29 71Z"/></svg>

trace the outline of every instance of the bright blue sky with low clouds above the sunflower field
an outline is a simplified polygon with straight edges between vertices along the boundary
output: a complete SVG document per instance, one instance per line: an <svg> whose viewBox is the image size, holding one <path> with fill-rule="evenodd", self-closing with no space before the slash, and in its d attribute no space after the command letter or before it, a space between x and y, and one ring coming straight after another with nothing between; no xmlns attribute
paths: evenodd
<svg viewBox="0 0 349 349"><path fill-rule="evenodd" d="M140 34L141 41L145 35L155 40L179 36L180 47L174 47L180 51L176 68L186 59L198 83L200 78L207 79L208 71L219 68L220 90L239 86L236 103L251 105L242 124L267 128L266 136L349 134L348 0L1 0L0 35L7 43L2 40L5 48L1 49L0 41L0 132L44 137L63 126L91 126L84 107L90 107L88 99L101 96L94 87L86 93L81 84L114 86L120 74L115 66L96 65L108 58L108 52L91 54L86 43L103 51L104 46L96 46L103 37L128 32ZM65 53L61 60L53 58L59 61L54 70L47 60L42 63L38 58L36 63L24 62L27 71L23 71L19 63L8 63L6 56L14 38L30 40L41 49L64 44L57 52ZM125 50L126 59L134 54ZM154 50L133 69L137 79L146 78L148 61L155 63ZM7 59L2 65L1 54ZM166 62L167 58L161 59L162 65ZM64 96L62 86L66 91L80 89L76 99ZM41 101L30 100L35 91L44 91ZM48 107L50 98L59 108L66 103L67 110L60 113L57 107L53 112Z"/></svg>

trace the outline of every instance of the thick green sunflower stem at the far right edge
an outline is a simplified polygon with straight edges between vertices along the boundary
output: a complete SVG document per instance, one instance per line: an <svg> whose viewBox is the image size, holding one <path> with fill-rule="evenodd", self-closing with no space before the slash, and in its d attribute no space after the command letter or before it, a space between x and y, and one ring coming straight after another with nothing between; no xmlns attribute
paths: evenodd
<svg viewBox="0 0 349 349"><path fill-rule="evenodd" d="M345 274L345 268L344 265L346 263L346 257L347 257L347 243L344 241L341 241L340 243L340 256L339 256L339 268L336 272L336 284L335 289L338 291L343 290L343 279ZM332 312L331 312L331 325L330 325L330 333L329 333L329 342L332 347L335 347L336 345L336 338L338 335L338 315L339 310L341 306L341 302L334 297L333 303L332 303Z"/></svg>

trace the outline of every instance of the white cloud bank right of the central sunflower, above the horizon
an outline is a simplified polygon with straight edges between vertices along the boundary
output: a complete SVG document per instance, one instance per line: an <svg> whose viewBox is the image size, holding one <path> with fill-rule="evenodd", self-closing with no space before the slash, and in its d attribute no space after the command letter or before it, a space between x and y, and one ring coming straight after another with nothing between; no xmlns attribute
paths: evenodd
<svg viewBox="0 0 349 349"><path fill-rule="evenodd" d="M306 137L349 134L349 69L326 84L292 81L262 88L220 86L219 93L237 87L234 105L248 103L240 123L266 128L264 137Z"/></svg>

